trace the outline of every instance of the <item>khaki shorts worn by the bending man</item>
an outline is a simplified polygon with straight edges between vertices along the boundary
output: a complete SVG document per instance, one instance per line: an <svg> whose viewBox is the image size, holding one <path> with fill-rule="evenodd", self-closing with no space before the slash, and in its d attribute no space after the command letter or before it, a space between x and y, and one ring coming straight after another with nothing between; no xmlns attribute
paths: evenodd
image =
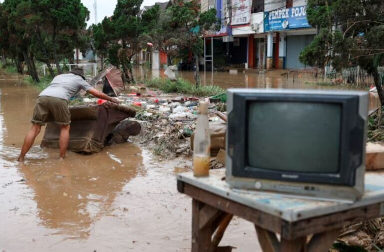
<svg viewBox="0 0 384 252"><path fill-rule="evenodd" d="M52 121L60 125L70 124L68 101L50 96L38 97L31 122L45 125Z"/></svg>

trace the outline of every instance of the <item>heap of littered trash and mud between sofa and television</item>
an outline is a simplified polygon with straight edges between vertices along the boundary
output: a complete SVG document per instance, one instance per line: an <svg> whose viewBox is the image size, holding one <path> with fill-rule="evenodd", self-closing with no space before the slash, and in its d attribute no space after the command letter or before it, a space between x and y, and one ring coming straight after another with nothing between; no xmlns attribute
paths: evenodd
<svg viewBox="0 0 384 252"><path fill-rule="evenodd" d="M191 136L196 127L198 102L209 98L165 95L145 87L130 87L128 94L119 100L137 107L136 120L141 124L141 134L133 141L145 145L161 157L190 156ZM215 114L222 110L222 102L209 104L210 122L222 122Z"/></svg>

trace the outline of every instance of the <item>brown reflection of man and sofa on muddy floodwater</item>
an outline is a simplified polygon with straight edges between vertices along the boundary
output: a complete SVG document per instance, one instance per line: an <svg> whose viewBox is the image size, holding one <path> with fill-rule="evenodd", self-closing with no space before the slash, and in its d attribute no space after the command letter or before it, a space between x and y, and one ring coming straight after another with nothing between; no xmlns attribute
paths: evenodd
<svg viewBox="0 0 384 252"><path fill-rule="evenodd" d="M112 203L123 186L139 171L145 175L140 170L141 149L127 145L109 150L118 162L103 151L21 165L26 185L33 189L41 224L56 229L57 234L88 238L92 223L113 211Z"/></svg>

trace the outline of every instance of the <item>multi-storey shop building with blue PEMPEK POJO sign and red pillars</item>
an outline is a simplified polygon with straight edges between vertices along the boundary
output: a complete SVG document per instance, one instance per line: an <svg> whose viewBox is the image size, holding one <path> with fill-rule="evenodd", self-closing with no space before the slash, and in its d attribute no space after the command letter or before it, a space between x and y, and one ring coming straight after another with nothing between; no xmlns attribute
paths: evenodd
<svg viewBox="0 0 384 252"><path fill-rule="evenodd" d="M213 6L213 0L201 0ZM212 5L209 5L212 4ZM306 0L215 0L219 32L205 34L205 68L303 68L298 57L316 34Z"/></svg>

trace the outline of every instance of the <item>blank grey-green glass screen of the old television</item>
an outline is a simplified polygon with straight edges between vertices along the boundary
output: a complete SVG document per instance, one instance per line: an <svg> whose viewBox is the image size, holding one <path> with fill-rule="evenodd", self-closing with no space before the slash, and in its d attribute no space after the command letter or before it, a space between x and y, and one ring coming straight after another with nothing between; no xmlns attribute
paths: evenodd
<svg viewBox="0 0 384 252"><path fill-rule="evenodd" d="M248 103L248 167L337 173L340 167L340 103Z"/></svg>

